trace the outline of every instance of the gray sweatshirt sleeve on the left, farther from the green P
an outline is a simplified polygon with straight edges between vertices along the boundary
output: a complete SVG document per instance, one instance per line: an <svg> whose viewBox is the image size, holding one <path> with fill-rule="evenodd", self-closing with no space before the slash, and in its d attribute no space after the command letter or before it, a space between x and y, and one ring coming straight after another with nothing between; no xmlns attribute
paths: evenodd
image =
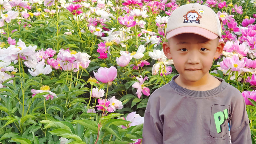
<svg viewBox="0 0 256 144"><path fill-rule="evenodd" d="M150 111L145 111L142 144L163 143L163 129L160 124L151 116Z"/></svg>

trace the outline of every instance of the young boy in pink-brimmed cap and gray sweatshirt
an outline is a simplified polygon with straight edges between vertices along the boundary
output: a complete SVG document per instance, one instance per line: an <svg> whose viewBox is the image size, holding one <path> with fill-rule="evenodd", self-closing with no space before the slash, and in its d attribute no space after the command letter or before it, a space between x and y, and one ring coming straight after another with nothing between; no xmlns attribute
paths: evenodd
<svg viewBox="0 0 256 144"><path fill-rule="evenodd" d="M168 19L166 37L164 54L179 75L150 96L142 144L252 143L243 96L209 74L224 47L215 12L200 4L178 7Z"/></svg>

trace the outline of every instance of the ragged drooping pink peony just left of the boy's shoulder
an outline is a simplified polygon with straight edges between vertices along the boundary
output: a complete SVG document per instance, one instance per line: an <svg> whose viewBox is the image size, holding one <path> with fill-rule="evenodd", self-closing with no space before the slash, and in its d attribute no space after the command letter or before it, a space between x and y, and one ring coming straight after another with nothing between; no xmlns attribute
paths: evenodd
<svg viewBox="0 0 256 144"><path fill-rule="evenodd" d="M142 76L140 77L136 77L136 79L139 81L139 82L135 82L134 84L132 84L132 87L136 88L137 89L137 96L138 98L140 99L142 93L145 94L146 96L149 96L150 93L149 93L149 88L144 86L144 82L146 79L148 79L148 76L145 76L144 79L142 78ZM141 93L142 92L142 93Z"/></svg>

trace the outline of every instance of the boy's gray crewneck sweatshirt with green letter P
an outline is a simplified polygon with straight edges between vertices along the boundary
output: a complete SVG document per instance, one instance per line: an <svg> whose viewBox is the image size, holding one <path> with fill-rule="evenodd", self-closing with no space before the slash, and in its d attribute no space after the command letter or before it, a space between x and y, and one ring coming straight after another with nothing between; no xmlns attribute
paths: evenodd
<svg viewBox="0 0 256 144"><path fill-rule="evenodd" d="M244 98L235 87L216 77L218 87L193 91L176 84L177 76L149 97L142 144L252 143Z"/></svg>

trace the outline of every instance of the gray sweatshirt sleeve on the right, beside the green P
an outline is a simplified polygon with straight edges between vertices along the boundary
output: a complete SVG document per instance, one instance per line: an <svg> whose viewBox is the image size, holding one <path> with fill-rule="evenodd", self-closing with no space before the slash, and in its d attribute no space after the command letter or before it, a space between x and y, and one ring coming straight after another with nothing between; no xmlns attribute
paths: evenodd
<svg viewBox="0 0 256 144"><path fill-rule="evenodd" d="M251 144L249 118L242 95L236 100L230 119L230 137L232 144Z"/></svg>

